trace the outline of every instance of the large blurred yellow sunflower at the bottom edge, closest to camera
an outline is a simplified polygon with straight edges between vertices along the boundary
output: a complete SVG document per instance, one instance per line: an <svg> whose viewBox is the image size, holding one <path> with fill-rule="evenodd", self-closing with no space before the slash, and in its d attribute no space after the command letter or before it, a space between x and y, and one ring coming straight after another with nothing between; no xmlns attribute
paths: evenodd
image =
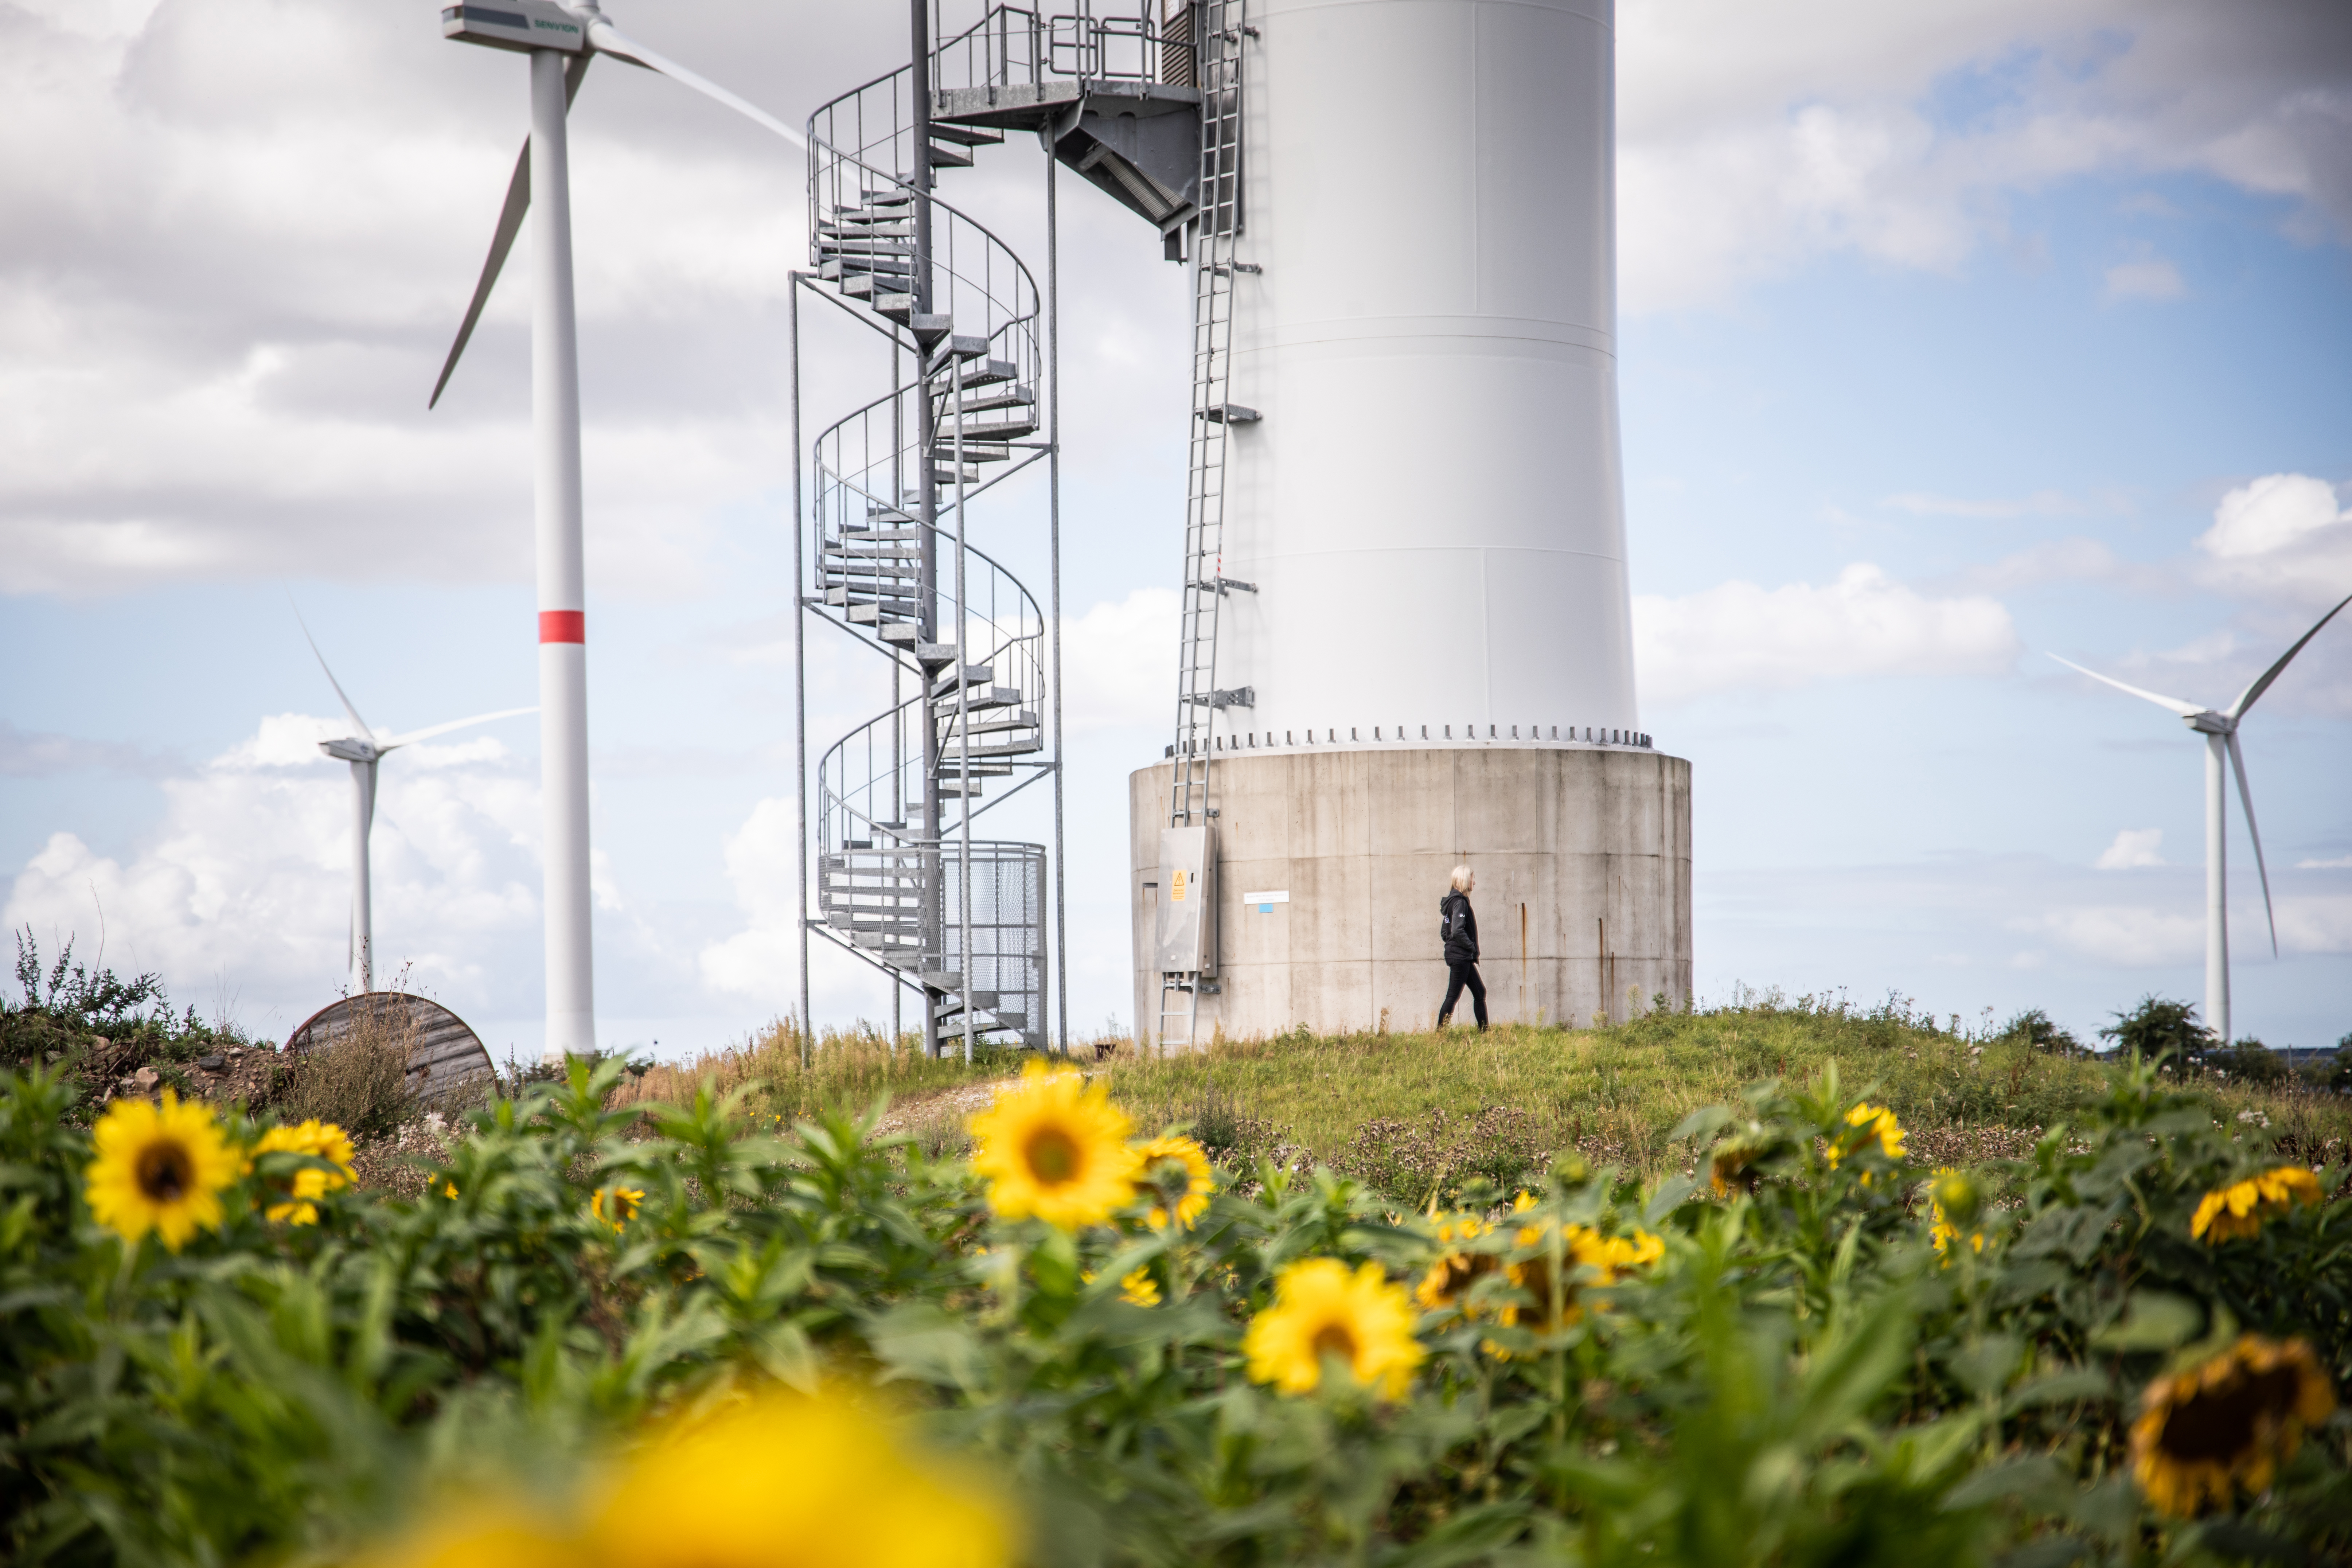
<svg viewBox="0 0 2352 1568"><path fill-rule="evenodd" d="M779 1483L779 1476L783 1483ZM644 1443L579 1561L630 1568L1004 1568L997 1490L830 1396L767 1392Z"/></svg>

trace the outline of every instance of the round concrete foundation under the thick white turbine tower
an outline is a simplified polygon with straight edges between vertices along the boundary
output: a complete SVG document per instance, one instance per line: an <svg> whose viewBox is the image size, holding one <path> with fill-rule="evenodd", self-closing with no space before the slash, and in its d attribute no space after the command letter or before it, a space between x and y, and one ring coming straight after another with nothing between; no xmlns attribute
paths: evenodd
<svg viewBox="0 0 2352 1568"><path fill-rule="evenodd" d="M1160 1034L1152 929L1174 764L1127 780L1136 1039ZM1192 1039L1425 1030L1437 900L1477 870L1494 1023L1623 1020L1691 994L1691 764L1646 748L1242 750L1209 769L1216 992ZM1197 818L1195 818L1197 820ZM1456 1006L1470 1023L1470 999Z"/></svg>

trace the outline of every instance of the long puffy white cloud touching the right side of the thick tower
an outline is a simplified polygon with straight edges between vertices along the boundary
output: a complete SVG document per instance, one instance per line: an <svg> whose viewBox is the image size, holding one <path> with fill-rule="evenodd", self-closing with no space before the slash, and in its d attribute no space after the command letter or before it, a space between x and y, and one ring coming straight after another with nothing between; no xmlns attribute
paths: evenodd
<svg viewBox="0 0 2352 1568"><path fill-rule="evenodd" d="M1632 602L1644 703L1776 691L1849 675L1997 675L2018 656L2009 609L1929 597L1858 562L1835 583L1722 583Z"/></svg>

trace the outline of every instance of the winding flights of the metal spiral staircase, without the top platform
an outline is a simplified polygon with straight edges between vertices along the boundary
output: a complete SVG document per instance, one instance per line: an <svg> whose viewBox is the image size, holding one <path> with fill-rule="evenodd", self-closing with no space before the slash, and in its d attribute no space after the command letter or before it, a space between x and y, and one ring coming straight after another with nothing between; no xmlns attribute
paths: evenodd
<svg viewBox="0 0 2352 1568"><path fill-rule="evenodd" d="M814 442L807 607L891 663L894 703L818 762L821 931L924 994L946 1030L1040 1046L1042 844L971 823L1035 780L1047 625L1035 595L969 541L971 503L1044 456L1040 292L985 226L931 193L1002 132L931 127L915 68L809 118L809 244L821 287L891 336L906 386Z"/></svg>

